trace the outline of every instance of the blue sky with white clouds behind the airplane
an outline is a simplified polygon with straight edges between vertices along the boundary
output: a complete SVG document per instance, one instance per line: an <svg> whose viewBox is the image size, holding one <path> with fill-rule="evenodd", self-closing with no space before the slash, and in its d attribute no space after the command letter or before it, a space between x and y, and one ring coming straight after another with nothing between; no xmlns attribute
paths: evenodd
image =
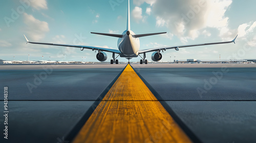
<svg viewBox="0 0 256 143"><path fill-rule="evenodd" d="M140 50L161 46L229 41L167 50L161 61L256 59L256 1L131 0L131 30L136 34L167 32L140 38ZM26 44L30 41L117 48L117 38L90 32L121 34L126 29L127 0L20 0L0 6L0 59L97 61L92 50ZM111 60L112 54L108 54ZM151 61L151 54L146 56ZM65 55L65 56L63 56ZM127 61L118 58L119 61ZM131 61L137 62L140 58Z"/></svg>

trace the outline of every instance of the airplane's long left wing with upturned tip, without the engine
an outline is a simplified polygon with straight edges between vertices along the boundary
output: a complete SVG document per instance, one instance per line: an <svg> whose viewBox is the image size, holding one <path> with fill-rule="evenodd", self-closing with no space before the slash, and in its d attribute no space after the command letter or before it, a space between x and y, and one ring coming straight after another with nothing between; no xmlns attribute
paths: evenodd
<svg viewBox="0 0 256 143"><path fill-rule="evenodd" d="M25 35L24 35L25 36ZM95 46L85 46L85 45L70 45L70 44L54 44L54 43L39 43L39 42L30 42L27 37L25 36L27 43L32 43L32 44L44 44L44 45L57 45L57 46L69 46L69 47L78 47L81 50L83 49L91 49L93 51L103 51L103 52L111 52L111 53L116 53L120 54L121 52L119 50L115 49L108 49L108 48L103 48L103 47L95 47Z"/></svg>

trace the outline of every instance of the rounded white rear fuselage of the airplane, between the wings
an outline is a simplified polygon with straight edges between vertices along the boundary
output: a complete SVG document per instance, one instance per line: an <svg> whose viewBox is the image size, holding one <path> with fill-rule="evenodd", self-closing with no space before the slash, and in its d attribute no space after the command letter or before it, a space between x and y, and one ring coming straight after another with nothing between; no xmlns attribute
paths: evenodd
<svg viewBox="0 0 256 143"><path fill-rule="evenodd" d="M133 35L135 33L129 30L130 34L127 34L128 30L125 30L122 35L122 38L119 38L117 41L117 46L119 51L123 54L123 56L129 57L138 57L138 52L140 49L140 40L139 38L135 38Z"/></svg>

